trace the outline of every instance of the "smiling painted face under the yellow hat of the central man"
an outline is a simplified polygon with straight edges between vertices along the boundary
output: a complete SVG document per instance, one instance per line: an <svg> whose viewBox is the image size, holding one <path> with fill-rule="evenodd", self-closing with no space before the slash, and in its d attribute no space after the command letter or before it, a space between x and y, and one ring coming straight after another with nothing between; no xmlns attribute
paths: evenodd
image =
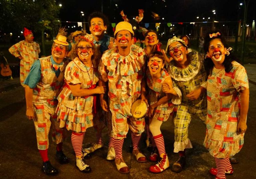
<svg viewBox="0 0 256 179"><path fill-rule="evenodd" d="M132 41L133 41L133 37L131 36L131 33L127 30L119 31L116 34L115 43L118 49L130 48L132 45Z"/></svg>

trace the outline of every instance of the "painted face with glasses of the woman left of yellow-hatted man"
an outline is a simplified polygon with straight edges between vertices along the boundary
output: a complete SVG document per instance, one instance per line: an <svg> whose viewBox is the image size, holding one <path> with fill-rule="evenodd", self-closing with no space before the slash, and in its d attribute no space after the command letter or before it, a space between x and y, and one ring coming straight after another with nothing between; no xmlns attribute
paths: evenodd
<svg viewBox="0 0 256 179"><path fill-rule="evenodd" d="M80 41L78 43L77 55L82 62L89 62L93 55L91 43L87 41Z"/></svg>

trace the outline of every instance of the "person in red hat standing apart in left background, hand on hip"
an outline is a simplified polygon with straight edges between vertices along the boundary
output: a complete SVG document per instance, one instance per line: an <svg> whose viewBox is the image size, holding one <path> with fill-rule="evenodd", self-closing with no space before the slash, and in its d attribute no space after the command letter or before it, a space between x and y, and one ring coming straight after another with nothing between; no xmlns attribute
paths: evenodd
<svg viewBox="0 0 256 179"><path fill-rule="evenodd" d="M32 31L24 27L23 35L25 40L11 46L9 52L20 59L20 83L25 88L24 80L28 76L32 64L39 57L40 47L38 43L33 41Z"/></svg>

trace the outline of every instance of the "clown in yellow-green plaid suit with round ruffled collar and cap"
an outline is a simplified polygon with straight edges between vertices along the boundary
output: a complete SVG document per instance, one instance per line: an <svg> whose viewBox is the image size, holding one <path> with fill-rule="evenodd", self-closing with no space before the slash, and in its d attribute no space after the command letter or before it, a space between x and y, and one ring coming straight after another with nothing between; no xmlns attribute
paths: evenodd
<svg viewBox="0 0 256 179"><path fill-rule="evenodd" d="M177 37L168 40L166 53L173 58L167 72L182 93L181 104L177 106L174 118L174 152L179 153L179 159L174 162L172 171L180 172L185 165L185 149L192 148L188 138L188 126L191 115L196 114L203 122L206 120L206 93L202 87L206 83L206 73L203 66L204 56L198 52L186 54L185 42ZM163 91L168 92L170 84L163 84Z"/></svg>

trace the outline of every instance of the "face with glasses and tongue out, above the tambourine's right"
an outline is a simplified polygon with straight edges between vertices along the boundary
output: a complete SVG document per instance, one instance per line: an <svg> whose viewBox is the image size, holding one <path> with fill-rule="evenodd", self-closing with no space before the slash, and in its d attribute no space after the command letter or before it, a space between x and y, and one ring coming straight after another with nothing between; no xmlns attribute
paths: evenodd
<svg viewBox="0 0 256 179"><path fill-rule="evenodd" d="M164 63L163 60L157 56L153 56L148 60L148 68L151 75L161 74Z"/></svg>

